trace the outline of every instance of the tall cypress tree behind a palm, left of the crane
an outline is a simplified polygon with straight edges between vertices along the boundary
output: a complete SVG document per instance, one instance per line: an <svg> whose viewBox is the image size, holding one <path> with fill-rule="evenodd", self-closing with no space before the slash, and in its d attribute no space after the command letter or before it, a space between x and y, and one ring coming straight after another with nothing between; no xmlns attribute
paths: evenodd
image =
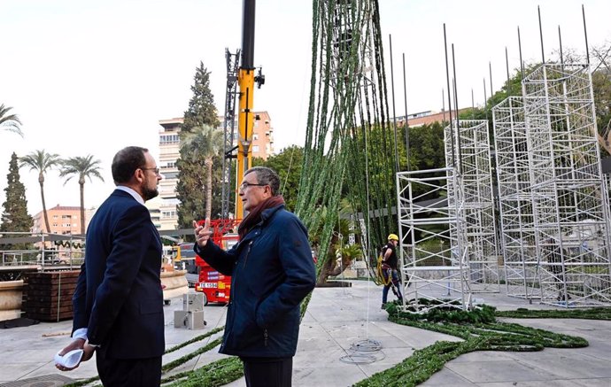
<svg viewBox="0 0 611 387"><path fill-rule="evenodd" d="M184 123L181 127L181 143L184 137L201 128L210 125L216 128L220 125L218 114L214 105L214 96L210 90L210 72L204 63L199 62L191 86L193 97L189 101L189 108L184 112ZM218 161L218 162L217 162ZM181 157L177 161L178 183L176 184L177 197L181 200L178 206L178 227L190 228L191 221L204 219L205 214L205 158L197 150L188 147L181 148ZM215 159L214 165L220 166L220 158ZM213 171L213 218L220 213L221 196L221 168Z"/></svg>

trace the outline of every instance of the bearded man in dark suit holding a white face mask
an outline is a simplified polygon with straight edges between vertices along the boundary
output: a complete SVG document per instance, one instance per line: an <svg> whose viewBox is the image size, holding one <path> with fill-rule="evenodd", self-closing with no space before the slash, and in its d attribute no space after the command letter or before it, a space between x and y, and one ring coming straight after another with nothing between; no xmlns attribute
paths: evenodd
<svg viewBox="0 0 611 387"><path fill-rule="evenodd" d="M117 188L87 230L73 295L73 342L59 354L82 349L86 361L95 351L104 386L159 386L165 349L162 250L144 202L159 195L161 175L148 150L129 146L112 159L112 179Z"/></svg>

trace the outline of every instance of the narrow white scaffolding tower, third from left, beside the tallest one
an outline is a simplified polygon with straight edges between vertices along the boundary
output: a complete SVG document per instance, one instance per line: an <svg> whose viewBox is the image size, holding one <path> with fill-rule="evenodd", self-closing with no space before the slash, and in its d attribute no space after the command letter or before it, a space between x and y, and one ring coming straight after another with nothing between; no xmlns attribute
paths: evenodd
<svg viewBox="0 0 611 387"><path fill-rule="evenodd" d="M538 298L537 244L522 97L508 97L492 107L492 120L507 295Z"/></svg>

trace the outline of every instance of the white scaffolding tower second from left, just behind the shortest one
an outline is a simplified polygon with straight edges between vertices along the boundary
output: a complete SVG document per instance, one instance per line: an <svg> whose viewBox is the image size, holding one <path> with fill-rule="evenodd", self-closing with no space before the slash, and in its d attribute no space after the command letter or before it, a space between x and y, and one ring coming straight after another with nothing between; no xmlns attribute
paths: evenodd
<svg viewBox="0 0 611 387"><path fill-rule="evenodd" d="M465 217L465 228L462 231L468 244L470 289L473 292L498 292L499 251L492 194L488 121L460 120L459 125L460 130L456 130L455 122L452 122L452 131L450 126L445 128L445 164L460 165L460 187L463 190ZM460 152L453 152L454 160L452 141L454 147L460 149ZM456 191L450 190L448 197L453 198L455 193Z"/></svg>

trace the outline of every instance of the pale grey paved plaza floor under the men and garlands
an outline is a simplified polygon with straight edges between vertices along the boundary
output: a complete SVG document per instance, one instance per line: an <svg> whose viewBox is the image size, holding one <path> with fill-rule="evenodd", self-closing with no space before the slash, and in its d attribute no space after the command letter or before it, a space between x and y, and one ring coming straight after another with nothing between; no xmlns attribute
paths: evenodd
<svg viewBox="0 0 611 387"><path fill-rule="evenodd" d="M317 288L308 306L294 359L295 387L349 386L376 372L391 368L415 350L437 340L457 337L388 321L380 309L382 288L352 281L352 287ZM521 298L502 293L478 294L483 303L501 310L539 308ZM391 296L392 299L392 296ZM540 306L550 308L551 306ZM224 306L205 306L205 329L174 328L174 310L182 299L174 298L166 311L166 346L222 326ZM504 319L553 332L584 337L590 345L577 349L545 348L542 352L471 352L445 364L425 386L551 387L611 386L611 321L573 319ZM0 386L60 386L71 380L97 375L95 361L66 373L54 367L53 355L66 345L72 321L41 322L14 329L0 329ZM164 357L164 363L193 352L207 342L197 342ZM374 351L379 345L379 350ZM217 349L185 362L173 372L201 367L222 355ZM35 384L39 383L39 384ZM228 386L244 386L244 378Z"/></svg>

